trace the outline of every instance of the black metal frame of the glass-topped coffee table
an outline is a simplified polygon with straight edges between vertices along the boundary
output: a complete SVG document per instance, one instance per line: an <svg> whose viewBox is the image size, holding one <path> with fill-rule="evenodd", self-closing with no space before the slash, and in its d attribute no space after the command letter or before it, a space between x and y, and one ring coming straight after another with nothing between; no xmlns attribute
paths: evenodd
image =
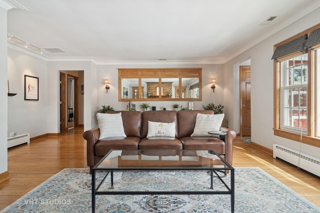
<svg viewBox="0 0 320 213"><path fill-rule="evenodd" d="M112 151L112 150L111 150ZM110 151L110 152L111 152ZM108 155L108 154L107 154ZM103 161L104 158L101 159ZM159 167L159 168L112 168L112 169L105 169L105 168L96 168L95 166L92 168L92 213L95 212L95 196L96 195L230 195L230 208L231 213L234 213L234 169L223 159L220 159L227 168L222 167L216 167L216 168L200 168L200 167ZM99 161L99 163L101 162ZM99 165L99 163L97 165ZM99 183L99 185L96 187L95 183L95 172L97 170L106 171L106 175L102 179L102 181ZM100 186L103 184L106 177L110 174L111 179L111 187L110 189L114 189L113 186L113 171L133 171L133 170L139 170L139 171L160 171L160 170L167 170L167 171L174 171L174 170L208 170L210 171L210 189L213 190L213 177L217 177L220 182L225 186L226 191L131 191L131 192L123 192L123 191L101 191L98 192ZM223 171L226 172L226 170L230 171L230 187L224 182L222 177L225 176L219 176L217 172ZM216 176L213 176L213 173Z"/></svg>

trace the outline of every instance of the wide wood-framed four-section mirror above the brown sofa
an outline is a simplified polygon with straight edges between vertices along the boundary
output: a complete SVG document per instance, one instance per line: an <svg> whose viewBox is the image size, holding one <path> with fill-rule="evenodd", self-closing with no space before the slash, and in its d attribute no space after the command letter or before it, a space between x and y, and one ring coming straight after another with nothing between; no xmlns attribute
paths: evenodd
<svg viewBox="0 0 320 213"><path fill-rule="evenodd" d="M201 68L118 69L119 101L201 100Z"/></svg>

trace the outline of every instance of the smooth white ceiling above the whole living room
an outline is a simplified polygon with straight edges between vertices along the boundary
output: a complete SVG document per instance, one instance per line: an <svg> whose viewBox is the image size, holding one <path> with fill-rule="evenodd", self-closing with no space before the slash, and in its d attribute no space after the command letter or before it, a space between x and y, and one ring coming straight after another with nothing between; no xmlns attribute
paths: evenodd
<svg viewBox="0 0 320 213"><path fill-rule="evenodd" d="M46 60L224 63L319 0L0 0L7 32ZM23 9L23 7L25 9ZM277 16L267 25L260 25ZM21 44L9 42L9 46ZM22 46L21 46L22 49ZM39 54L38 50L31 50ZM271 57L271 56L270 56ZM164 60L161 60L164 59Z"/></svg>

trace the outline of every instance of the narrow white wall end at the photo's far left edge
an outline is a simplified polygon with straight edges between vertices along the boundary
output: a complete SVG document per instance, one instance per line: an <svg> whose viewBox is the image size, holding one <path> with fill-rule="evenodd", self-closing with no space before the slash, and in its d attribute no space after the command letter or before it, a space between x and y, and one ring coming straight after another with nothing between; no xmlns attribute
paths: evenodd
<svg viewBox="0 0 320 213"><path fill-rule="evenodd" d="M7 11L0 7L0 174L7 171Z"/></svg>

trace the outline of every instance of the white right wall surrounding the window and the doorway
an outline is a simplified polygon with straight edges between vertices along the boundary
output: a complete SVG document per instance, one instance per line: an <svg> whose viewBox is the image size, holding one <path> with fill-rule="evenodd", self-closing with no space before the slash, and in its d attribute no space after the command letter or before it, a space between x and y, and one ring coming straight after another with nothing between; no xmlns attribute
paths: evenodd
<svg viewBox="0 0 320 213"><path fill-rule="evenodd" d="M289 38L320 22L320 8L305 15L284 29L278 31L247 51L224 64L225 72L225 105L232 105L235 100L232 118L229 119L232 129L238 130L238 64L251 58L251 140L261 146L272 149L272 144L281 144L299 150L299 143L273 135L273 45ZM228 81L230 79L230 81ZM233 83L232 83L233 82ZM226 97L230 97L226 99ZM229 111L229 110L228 110ZM301 152L320 157L320 148L303 144Z"/></svg>

